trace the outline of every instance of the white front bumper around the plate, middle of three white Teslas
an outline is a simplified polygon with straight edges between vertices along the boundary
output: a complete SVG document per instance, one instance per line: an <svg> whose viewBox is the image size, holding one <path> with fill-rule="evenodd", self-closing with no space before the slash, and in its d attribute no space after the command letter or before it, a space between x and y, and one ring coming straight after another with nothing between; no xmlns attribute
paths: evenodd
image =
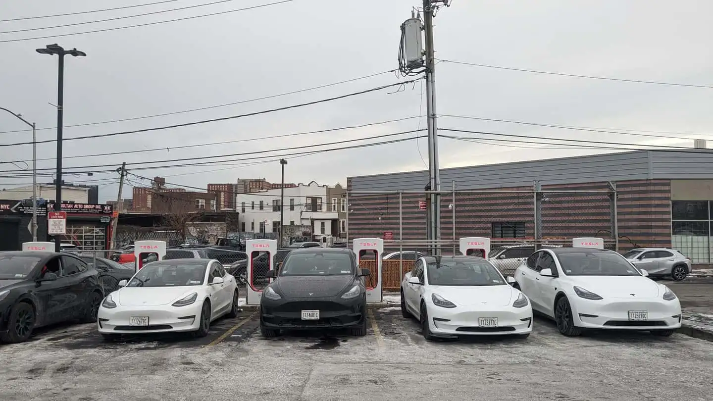
<svg viewBox="0 0 713 401"><path fill-rule="evenodd" d="M530 305L524 308L503 306L496 310L476 310L458 306L441 308L426 305L429 314L431 334L442 337L456 335L523 335L533 330L533 310ZM498 318L497 327L481 327L480 318Z"/></svg>

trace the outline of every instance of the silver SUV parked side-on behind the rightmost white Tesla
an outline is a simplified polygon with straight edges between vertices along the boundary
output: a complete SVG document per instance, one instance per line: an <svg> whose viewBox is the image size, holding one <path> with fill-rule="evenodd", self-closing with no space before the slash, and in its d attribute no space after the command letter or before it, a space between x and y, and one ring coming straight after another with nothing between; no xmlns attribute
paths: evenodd
<svg viewBox="0 0 713 401"><path fill-rule="evenodd" d="M635 248L623 255L637 268L646 270L652 277L670 277L681 281L692 270L691 260L675 249Z"/></svg>

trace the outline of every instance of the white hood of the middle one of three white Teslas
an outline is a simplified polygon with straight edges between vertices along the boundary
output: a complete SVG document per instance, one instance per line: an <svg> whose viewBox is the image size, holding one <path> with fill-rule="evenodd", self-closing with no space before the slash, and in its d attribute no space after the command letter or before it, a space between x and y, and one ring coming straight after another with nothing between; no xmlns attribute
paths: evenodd
<svg viewBox="0 0 713 401"><path fill-rule="evenodd" d="M460 306L498 305L506 306L515 302L517 290L510 285L479 285L461 287L455 285L434 285L434 293Z"/></svg>

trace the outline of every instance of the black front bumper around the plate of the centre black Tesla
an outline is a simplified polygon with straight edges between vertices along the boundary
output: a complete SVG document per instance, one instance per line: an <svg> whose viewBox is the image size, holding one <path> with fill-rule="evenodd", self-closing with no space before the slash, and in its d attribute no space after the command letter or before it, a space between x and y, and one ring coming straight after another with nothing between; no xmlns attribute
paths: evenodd
<svg viewBox="0 0 713 401"><path fill-rule="evenodd" d="M302 310L319 310L319 320L302 320ZM291 300L260 300L260 323L266 328L313 330L350 328L366 320L366 297L298 298Z"/></svg>

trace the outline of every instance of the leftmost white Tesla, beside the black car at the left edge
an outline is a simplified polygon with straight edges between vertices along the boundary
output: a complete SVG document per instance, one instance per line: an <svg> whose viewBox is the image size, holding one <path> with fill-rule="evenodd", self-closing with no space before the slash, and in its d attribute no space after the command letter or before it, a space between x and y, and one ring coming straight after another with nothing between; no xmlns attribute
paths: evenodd
<svg viewBox="0 0 713 401"><path fill-rule="evenodd" d="M107 339L164 332L205 337L213 320L240 312L235 278L217 260L148 263L119 286L99 307L98 330Z"/></svg>

